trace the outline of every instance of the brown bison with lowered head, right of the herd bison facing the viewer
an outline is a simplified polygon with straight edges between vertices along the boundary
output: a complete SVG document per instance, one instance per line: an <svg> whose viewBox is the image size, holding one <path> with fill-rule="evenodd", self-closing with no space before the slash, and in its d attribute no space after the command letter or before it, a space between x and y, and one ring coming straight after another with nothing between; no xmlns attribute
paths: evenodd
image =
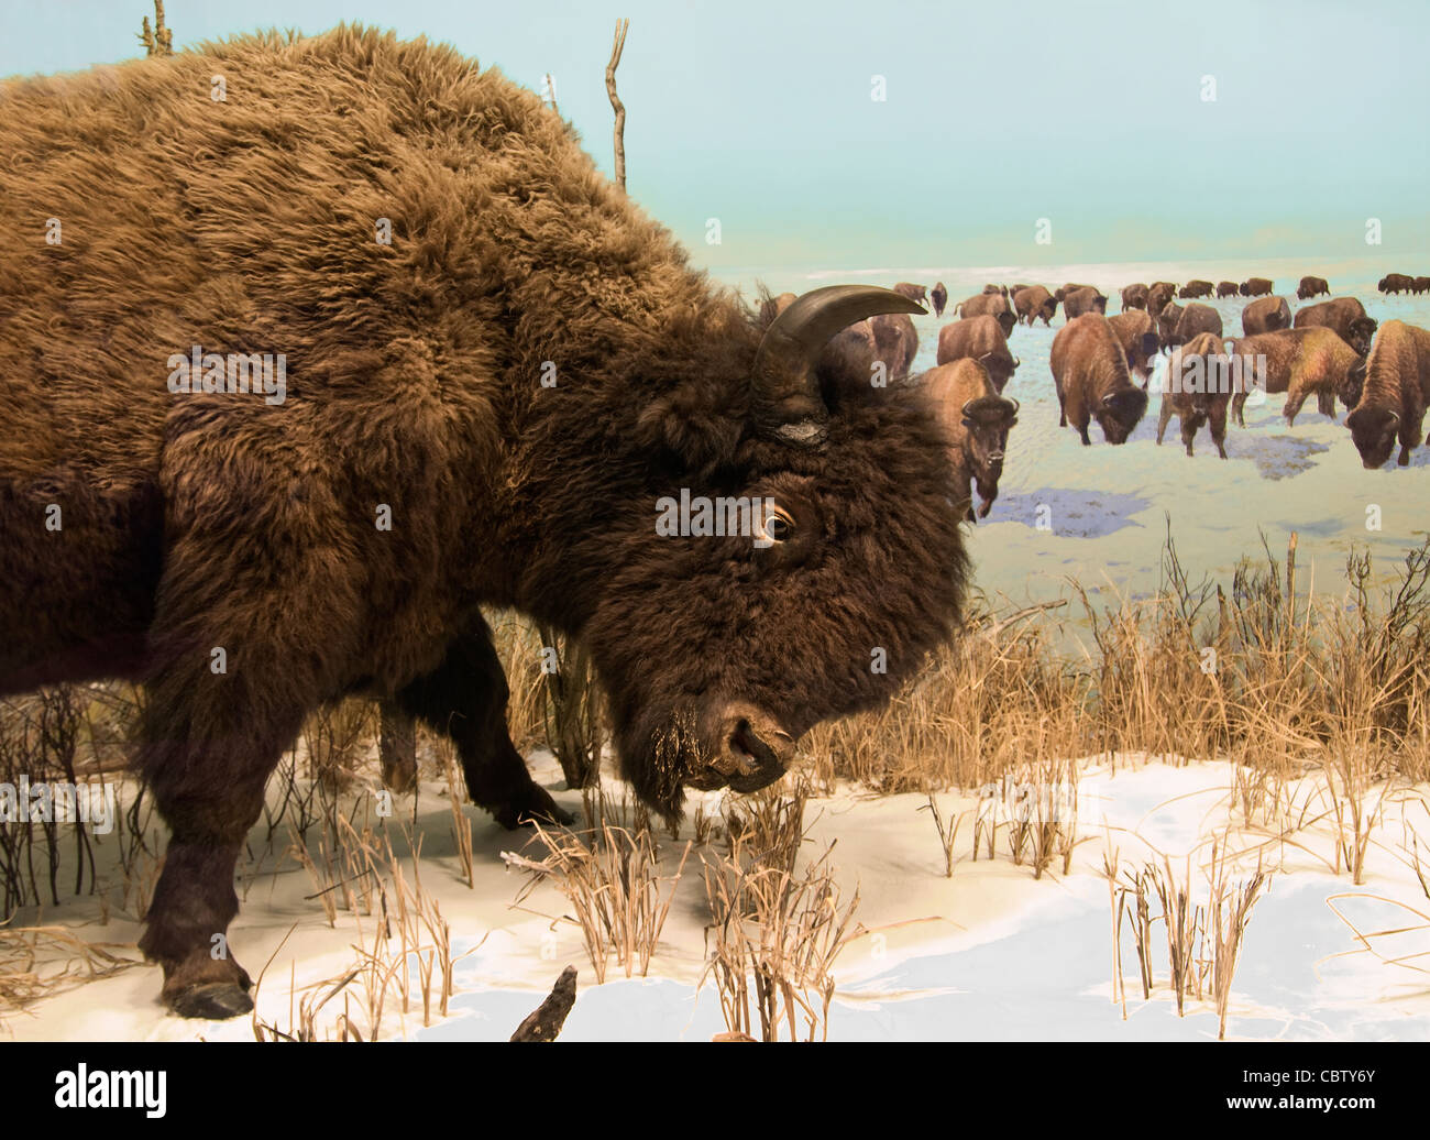
<svg viewBox="0 0 1430 1140"><path fill-rule="evenodd" d="M1107 318L1084 313L1052 338L1048 359L1058 392L1058 426L1071 423L1093 443L1087 429L1097 419L1108 443L1125 443L1147 412L1147 393L1127 375L1127 356Z"/></svg>

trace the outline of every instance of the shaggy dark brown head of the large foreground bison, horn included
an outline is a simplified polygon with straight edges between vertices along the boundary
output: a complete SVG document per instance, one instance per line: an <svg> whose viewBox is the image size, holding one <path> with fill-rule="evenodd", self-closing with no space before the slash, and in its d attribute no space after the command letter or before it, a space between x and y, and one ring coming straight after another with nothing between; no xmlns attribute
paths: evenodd
<svg viewBox="0 0 1430 1140"><path fill-rule="evenodd" d="M623 774L666 817L685 787L778 780L801 734L887 701L958 619L967 556L932 411L915 385L817 363L888 312L922 309L829 286L764 328L672 316L684 348L662 340L649 368L675 375L593 469L599 521L572 502L583 535L548 555Z"/></svg>

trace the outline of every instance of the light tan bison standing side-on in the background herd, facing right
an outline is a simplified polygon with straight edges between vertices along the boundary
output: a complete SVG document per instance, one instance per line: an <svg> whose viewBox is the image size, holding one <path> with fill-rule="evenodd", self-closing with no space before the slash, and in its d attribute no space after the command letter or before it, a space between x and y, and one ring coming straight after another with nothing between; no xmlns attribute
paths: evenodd
<svg viewBox="0 0 1430 1140"><path fill-rule="evenodd" d="M1301 405L1311 395L1320 413L1331 419L1336 419L1336 396L1347 408L1354 408L1360 399L1366 359L1330 329L1318 325L1278 329L1226 343L1240 375L1246 378L1246 386L1231 399L1233 416L1241 428L1246 426L1243 409L1253 383L1267 392L1287 393L1281 409L1287 425L1296 423Z"/></svg>

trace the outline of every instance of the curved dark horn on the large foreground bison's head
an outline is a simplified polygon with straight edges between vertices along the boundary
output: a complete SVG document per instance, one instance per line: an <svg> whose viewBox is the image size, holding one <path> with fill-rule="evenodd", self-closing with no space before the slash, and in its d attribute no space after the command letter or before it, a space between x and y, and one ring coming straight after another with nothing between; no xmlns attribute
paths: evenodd
<svg viewBox="0 0 1430 1140"><path fill-rule="evenodd" d="M874 285L827 285L797 298L769 322L755 352L751 406L761 433L802 446L821 443L829 409L814 368L829 338L879 313L927 312Z"/></svg>

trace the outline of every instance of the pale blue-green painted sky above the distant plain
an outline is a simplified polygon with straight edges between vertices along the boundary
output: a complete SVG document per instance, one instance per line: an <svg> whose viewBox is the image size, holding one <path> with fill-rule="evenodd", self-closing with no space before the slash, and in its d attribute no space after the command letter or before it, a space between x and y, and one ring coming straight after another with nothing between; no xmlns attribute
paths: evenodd
<svg viewBox="0 0 1430 1140"><path fill-rule="evenodd" d="M142 54L147 0L0 0L0 74ZM1424 0L167 0L174 46L342 20L532 89L718 270L1383 257L1430 272ZM871 99L882 76L887 99ZM1216 100L1203 99L1204 76ZM705 240L721 222L721 245ZM1040 217L1052 243L1035 243ZM1377 217L1383 245L1366 245Z"/></svg>

